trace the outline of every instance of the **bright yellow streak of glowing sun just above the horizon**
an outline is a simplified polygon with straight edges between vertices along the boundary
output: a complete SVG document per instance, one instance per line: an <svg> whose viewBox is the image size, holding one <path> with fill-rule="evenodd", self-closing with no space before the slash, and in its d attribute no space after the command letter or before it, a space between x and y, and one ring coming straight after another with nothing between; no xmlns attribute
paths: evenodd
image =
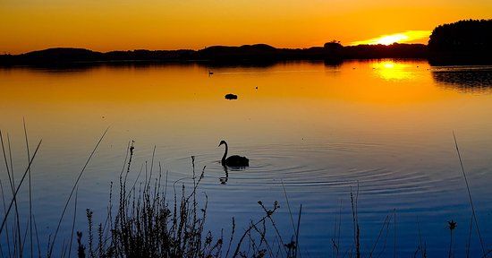
<svg viewBox="0 0 492 258"><path fill-rule="evenodd" d="M352 46L356 45L391 45L393 43L410 43L420 39L428 39L432 31L430 30L407 30L400 33L383 35L373 39L366 39L352 42Z"/></svg>

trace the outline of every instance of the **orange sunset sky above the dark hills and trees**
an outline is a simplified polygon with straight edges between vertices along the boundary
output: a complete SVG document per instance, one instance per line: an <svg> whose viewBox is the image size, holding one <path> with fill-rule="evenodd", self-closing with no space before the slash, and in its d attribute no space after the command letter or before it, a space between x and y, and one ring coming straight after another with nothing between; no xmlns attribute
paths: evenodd
<svg viewBox="0 0 492 258"><path fill-rule="evenodd" d="M0 53L427 43L438 24L490 18L490 0L0 0Z"/></svg>

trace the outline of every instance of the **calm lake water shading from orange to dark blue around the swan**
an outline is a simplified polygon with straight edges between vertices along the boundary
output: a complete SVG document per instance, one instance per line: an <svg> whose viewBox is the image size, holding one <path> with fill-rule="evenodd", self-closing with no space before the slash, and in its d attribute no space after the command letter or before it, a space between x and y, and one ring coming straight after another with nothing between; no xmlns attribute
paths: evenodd
<svg viewBox="0 0 492 258"><path fill-rule="evenodd" d="M225 99L227 93L238 99ZM288 239L293 227L285 188L294 216L302 204L302 256L331 257L339 215L340 249L348 255L350 193L359 185L364 254L369 255L386 215L395 213L396 228L392 219L374 256L393 257L395 244L398 256L411 257L421 241L428 257L443 257L449 249L447 221L454 219L454 252L464 257L471 207L453 132L488 250L490 93L490 66L433 67L424 61L11 68L0 69L0 129L4 140L7 133L10 138L16 182L27 165L23 118L31 154L43 140L32 167L43 254L76 176L109 126L81 177L76 229L87 228L86 208L94 210L97 223L104 222L110 182L117 181L127 144L134 141L131 178L146 161L150 166L154 146L154 169L161 162L170 185L190 178L192 155L198 170L207 166L200 191L208 194L208 227L216 232L228 232L232 217L244 228L263 214L258 201L278 201L281 209L274 218ZM250 159L250 168L228 171L226 184L220 181L225 176L218 162L221 140L229 143L230 154ZM4 165L0 171L8 201L12 194ZM24 217L26 183L19 204ZM72 212L69 208L57 246L70 235ZM5 244L2 248L6 253ZM471 257L481 254L473 230Z"/></svg>

